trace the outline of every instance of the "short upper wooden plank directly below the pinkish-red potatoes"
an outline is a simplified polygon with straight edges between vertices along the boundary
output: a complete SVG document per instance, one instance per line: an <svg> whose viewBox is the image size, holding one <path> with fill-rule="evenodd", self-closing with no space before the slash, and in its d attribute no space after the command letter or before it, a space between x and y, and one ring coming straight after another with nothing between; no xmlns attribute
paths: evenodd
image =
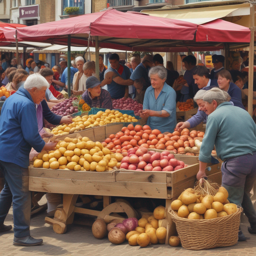
<svg viewBox="0 0 256 256"><path fill-rule="evenodd" d="M148 182L148 183L163 183L166 186L165 172L116 172L116 181L125 182Z"/></svg>

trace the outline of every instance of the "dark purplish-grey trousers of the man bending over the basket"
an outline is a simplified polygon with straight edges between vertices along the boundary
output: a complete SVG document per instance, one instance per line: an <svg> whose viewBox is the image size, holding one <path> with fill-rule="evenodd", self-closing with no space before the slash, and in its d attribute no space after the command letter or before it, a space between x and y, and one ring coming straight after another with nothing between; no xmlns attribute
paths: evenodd
<svg viewBox="0 0 256 256"><path fill-rule="evenodd" d="M222 186L228 191L228 200L242 206L252 227L256 228L256 211L250 191L256 180L256 153L231 158L221 167Z"/></svg>

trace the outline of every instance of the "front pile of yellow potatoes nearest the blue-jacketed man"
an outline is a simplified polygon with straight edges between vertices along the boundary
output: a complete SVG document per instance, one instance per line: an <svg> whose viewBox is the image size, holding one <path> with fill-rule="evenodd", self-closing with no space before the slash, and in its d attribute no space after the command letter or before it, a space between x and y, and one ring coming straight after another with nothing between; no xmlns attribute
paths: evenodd
<svg viewBox="0 0 256 256"><path fill-rule="evenodd" d="M42 151L34 159L36 168L66 169L72 171L110 171L119 168L123 155L112 153L99 141L88 137L69 138L59 141L54 151Z"/></svg>

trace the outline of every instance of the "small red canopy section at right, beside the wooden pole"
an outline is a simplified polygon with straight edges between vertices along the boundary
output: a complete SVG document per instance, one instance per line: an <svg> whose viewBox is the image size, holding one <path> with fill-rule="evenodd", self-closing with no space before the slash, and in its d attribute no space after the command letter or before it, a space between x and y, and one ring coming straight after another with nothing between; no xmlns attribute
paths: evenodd
<svg viewBox="0 0 256 256"><path fill-rule="evenodd" d="M198 25L197 42L249 43L251 31L249 28L217 19L203 25Z"/></svg>

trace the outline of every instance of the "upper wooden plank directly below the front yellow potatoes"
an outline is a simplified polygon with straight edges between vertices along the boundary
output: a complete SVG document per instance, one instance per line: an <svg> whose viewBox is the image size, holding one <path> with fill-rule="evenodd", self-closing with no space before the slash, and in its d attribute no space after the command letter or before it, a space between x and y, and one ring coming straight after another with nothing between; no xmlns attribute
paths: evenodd
<svg viewBox="0 0 256 256"><path fill-rule="evenodd" d="M115 171L111 172L86 172L69 170L52 170L44 168L29 168L30 177L43 177L53 179L77 179L85 181L115 182Z"/></svg>

